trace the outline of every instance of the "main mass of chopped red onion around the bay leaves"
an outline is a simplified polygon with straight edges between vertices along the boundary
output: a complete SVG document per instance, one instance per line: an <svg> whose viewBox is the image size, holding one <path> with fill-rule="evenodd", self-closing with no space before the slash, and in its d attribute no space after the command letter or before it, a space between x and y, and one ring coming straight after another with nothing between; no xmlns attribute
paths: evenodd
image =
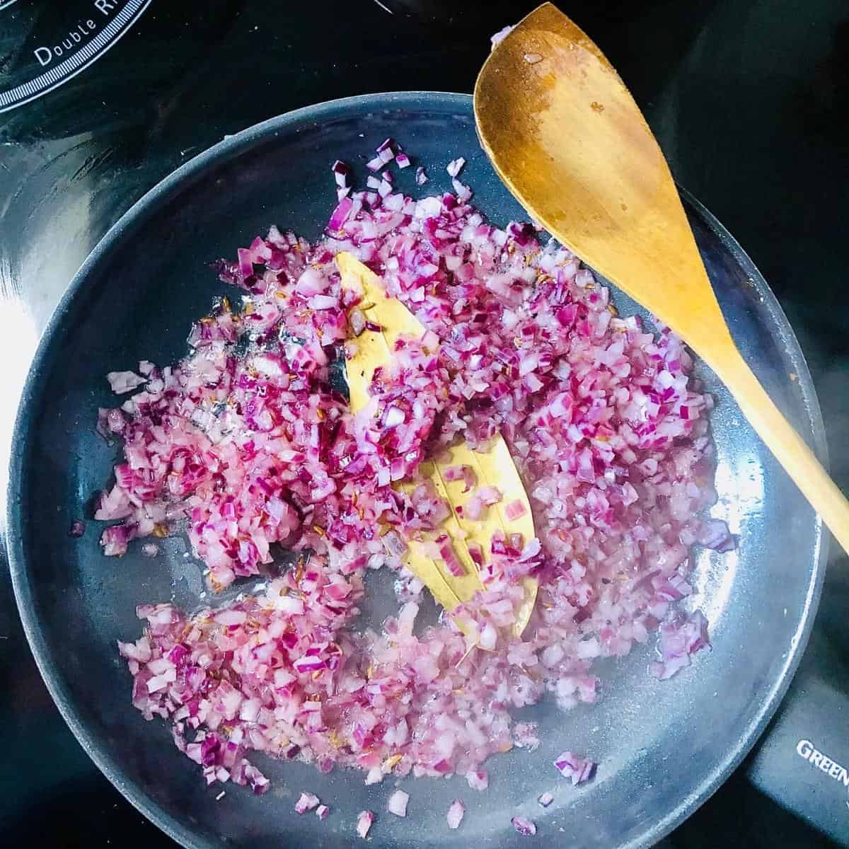
<svg viewBox="0 0 849 849"><path fill-rule="evenodd" d="M401 166L387 140L371 170L393 155ZM711 399L691 384L680 340L616 316L570 251L541 247L531 224L493 227L459 181L455 194L413 200L372 179L366 192L338 187L317 245L272 228L219 261L242 307L220 299L183 361L143 361L135 394L98 411L98 433L124 443L95 514L117 523L102 531L104 554L185 526L216 591L265 573L275 546L300 558L218 610L141 605L143 635L119 644L133 705L171 722L205 780L258 793L268 781L253 751L324 773L357 767L368 784L457 773L485 789L486 758L538 745L511 711L547 691L563 710L592 703L597 658L627 655L660 625L652 672L690 663L708 643L704 617L674 606L694 589L689 546L733 540L700 519L712 498ZM340 285L340 250L380 269L428 329L402 340L357 417L332 375L379 328ZM486 450L497 433L537 537L469 548L484 589L458 613L475 639L448 618L419 633L408 547L426 538L449 570L463 568L437 540L450 507L420 464L458 440ZM450 474L469 491L470 519L526 513L471 469ZM364 576L381 568L403 606L384 633L354 633ZM537 606L514 638L529 575ZM561 772L587 780L592 762L565 755Z"/></svg>

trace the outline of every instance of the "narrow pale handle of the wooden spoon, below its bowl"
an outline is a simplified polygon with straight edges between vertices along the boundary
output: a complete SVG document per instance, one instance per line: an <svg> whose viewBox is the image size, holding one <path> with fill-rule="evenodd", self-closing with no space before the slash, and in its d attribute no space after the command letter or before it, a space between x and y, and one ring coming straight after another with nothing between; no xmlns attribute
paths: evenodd
<svg viewBox="0 0 849 849"><path fill-rule="evenodd" d="M723 346L722 355L712 359L712 368L728 386L758 436L849 553L849 501L779 412L737 348L733 344Z"/></svg>

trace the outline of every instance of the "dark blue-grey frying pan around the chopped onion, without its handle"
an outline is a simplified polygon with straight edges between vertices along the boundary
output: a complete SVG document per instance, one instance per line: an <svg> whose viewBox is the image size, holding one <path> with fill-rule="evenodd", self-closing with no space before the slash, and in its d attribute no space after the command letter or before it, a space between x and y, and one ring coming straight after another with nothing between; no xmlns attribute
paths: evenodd
<svg viewBox="0 0 849 849"><path fill-rule="evenodd" d="M170 363L186 351L193 318L226 289L207 263L234 256L272 223L315 239L335 204L336 157L364 177L368 151L399 139L430 174L424 191L449 187L448 160L464 155L464 178L492 221L523 217L475 138L471 98L394 93L346 98L266 121L197 156L167 177L111 228L59 304L38 348L20 405L8 498L14 590L32 651L65 720L106 776L171 837L191 847L348 846L357 812L378 812L373 846L520 846L509 819L537 822L539 837L575 849L650 846L711 795L762 733L807 641L824 573L820 522L706 368L697 374L717 399L719 500L713 514L739 534L728 554L698 551L688 599L711 622L713 649L658 682L651 649L599 664L595 706L560 712L544 700L521 712L540 722L533 753L495 756L486 793L463 779L403 779L406 820L385 813L392 779L366 787L363 775L272 760L257 762L272 790L256 797L206 787L199 768L159 721L130 704L131 680L115 640L136 638L136 604L172 599L197 609L201 566L183 537L144 558L140 543L122 559L100 554L90 498L110 479L117 447L94 432L98 407L114 404L104 374L141 358ZM410 173L400 185L422 194ZM820 456L823 426L804 359L783 312L756 268L722 226L684 195L711 281L745 357ZM622 312L638 311L615 293ZM88 519L81 539L70 521ZM388 578L371 582L364 616L393 609ZM551 765L559 751L599 762L590 784L572 788ZM389 786L392 784L392 786ZM310 790L332 807L320 822L293 804ZM543 810L537 796L554 793ZM467 814L449 831L447 807ZM539 838L537 838L539 839Z"/></svg>

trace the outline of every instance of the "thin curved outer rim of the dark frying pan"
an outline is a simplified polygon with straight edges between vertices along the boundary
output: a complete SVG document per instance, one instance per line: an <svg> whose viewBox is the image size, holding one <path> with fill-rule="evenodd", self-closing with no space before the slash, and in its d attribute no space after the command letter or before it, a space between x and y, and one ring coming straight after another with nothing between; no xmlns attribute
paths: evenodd
<svg viewBox="0 0 849 849"><path fill-rule="evenodd" d="M101 257L110 250L115 240L121 239L121 234L132 222L136 221L139 217L143 217L149 207L155 206L160 199L167 197L172 191L179 188L184 181L200 174L207 166L213 165L218 160L235 158L235 156L239 155L241 149L250 147L251 144L256 143L261 138L275 135L277 131L284 128L298 127L305 123L321 121L334 115L344 115L346 111L351 109L361 112L368 110L391 110L393 108L408 108L413 110L417 106L421 107L423 105L444 112L450 112L452 109L455 109L458 114L472 114L472 96L470 94L407 91L356 95L348 98L328 100L320 104L308 105L301 109L284 113L283 115L277 115L267 121L261 121L229 138L225 138L199 155L194 156L191 160L188 160L183 166L172 171L160 183L157 183L153 188L150 188L149 191L143 194L98 241L91 254L87 256L87 259L71 279L68 288L65 290L65 294L53 311L41 340L39 340L37 351L27 374L14 424L6 514L9 571L27 641L30 644L32 655L35 658L38 670L51 698L59 708L59 713L71 732L79 741L80 745L82 745L87 756L92 759L98 769L110 780L110 783L121 792L121 795L138 812L149 818L166 835L171 837L172 840L177 841L180 845L185 846L186 849L208 849L211 843L203 838L199 838L192 829L179 822L171 813L166 812L137 782L126 778L121 764L98 742L95 735L87 728L86 723L82 721L65 685L63 676L53 661L51 650L41 630L30 576L26 568L24 539L20 533L21 499L19 486L24 472L23 459L26 453L25 443L28 430L26 410L30 407L31 402L36 400L40 389L38 381L39 368L42 361L48 355L48 351L53 344L53 339L60 329L60 323L65 312L68 311L70 305L76 299L80 290L82 290L88 274L97 266ZM779 301L773 295L772 290L769 289L766 280L751 261L750 257L739 246L734 237L722 227L722 224L717 218L711 215L689 192L681 187L679 187L679 190L685 200L692 205L694 210L708 224L711 231L721 239L725 248L734 256L734 260L739 263L740 267L745 268L751 284L756 288L758 294L762 296L763 305L773 318L776 332L784 345L787 356L793 363L798 378L798 387L807 415L807 423L810 424L812 430L813 451L821 462L827 464L824 423L813 380L796 335L790 327L790 323L784 315ZM653 820L644 829L642 835L638 835L632 841L622 844L620 849L644 849L644 847L652 846L655 842L660 841L668 835L712 796L725 779L728 778L730 773L739 766L739 763L742 762L752 746L755 745L756 740L763 734L767 723L773 717L780 701L789 688L796 668L801 661L801 655L807 646L814 615L818 607L819 596L822 592L825 572L824 566L828 556L828 535L824 534L822 520L820 520L819 516L815 516L814 519L814 541L811 580L808 584L799 623L792 638L790 650L784 659L781 672L773 680L767 694L762 698L760 709L756 711L756 715L752 717L751 722L743 730L743 733L739 735L737 744L726 751L725 756L722 757L721 761L717 763L717 766L710 773L706 773L703 776L693 792L681 801L677 807L667 812L664 817Z"/></svg>

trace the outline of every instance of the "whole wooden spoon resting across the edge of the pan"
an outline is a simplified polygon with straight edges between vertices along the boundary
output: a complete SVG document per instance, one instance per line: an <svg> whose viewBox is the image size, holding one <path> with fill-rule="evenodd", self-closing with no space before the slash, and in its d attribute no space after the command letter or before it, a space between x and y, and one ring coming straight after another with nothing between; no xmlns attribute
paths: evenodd
<svg viewBox="0 0 849 849"><path fill-rule="evenodd" d="M533 219L716 372L849 552L849 503L734 346L666 160L599 48L544 3L486 60L475 121L492 165Z"/></svg>

